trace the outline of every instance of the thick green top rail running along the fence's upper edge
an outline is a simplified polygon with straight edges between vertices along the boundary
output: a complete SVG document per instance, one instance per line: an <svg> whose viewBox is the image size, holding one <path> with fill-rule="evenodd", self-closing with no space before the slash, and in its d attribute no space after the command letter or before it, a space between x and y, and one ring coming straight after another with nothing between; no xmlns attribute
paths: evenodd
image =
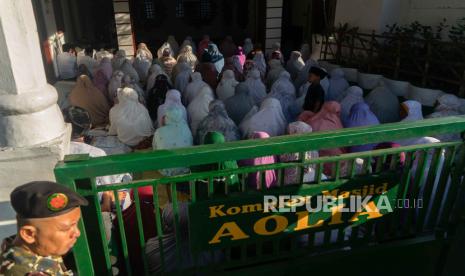
<svg viewBox="0 0 465 276"><path fill-rule="evenodd" d="M423 137L465 130L465 117L455 116L429 119L414 123L394 123L372 127L349 128L332 132L315 132L302 135L274 137L263 140L248 140L207 145L176 150L159 150L127 155L113 155L92 158L86 162L69 162L57 165L65 170L64 177L80 179L85 177L112 175L125 171L141 172L165 168L200 165L216 160L244 160L258 156L278 155ZM78 169L79 168L79 169Z"/></svg>

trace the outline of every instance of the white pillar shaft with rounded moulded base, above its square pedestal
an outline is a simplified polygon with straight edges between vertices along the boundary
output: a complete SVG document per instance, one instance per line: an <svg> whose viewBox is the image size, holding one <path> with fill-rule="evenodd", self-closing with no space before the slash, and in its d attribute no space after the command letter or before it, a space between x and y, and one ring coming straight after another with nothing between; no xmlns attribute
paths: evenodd
<svg viewBox="0 0 465 276"><path fill-rule="evenodd" d="M45 78L30 0L0 0L0 148L47 143L65 132Z"/></svg>

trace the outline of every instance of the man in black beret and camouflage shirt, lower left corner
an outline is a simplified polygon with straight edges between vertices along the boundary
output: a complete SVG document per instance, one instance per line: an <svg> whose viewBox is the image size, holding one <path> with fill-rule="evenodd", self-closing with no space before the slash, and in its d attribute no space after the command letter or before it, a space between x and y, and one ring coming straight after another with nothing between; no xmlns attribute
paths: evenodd
<svg viewBox="0 0 465 276"><path fill-rule="evenodd" d="M80 236L80 206L87 200L60 184L34 181L10 195L16 211L16 236L3 241L0 275L73 275L62 256Z"/></svg>

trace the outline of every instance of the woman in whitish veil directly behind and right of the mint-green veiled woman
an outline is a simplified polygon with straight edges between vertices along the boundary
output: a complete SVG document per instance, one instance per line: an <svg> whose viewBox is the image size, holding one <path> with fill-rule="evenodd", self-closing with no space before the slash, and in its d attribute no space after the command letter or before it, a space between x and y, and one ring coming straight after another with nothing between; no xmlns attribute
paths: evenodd
<svg viewBox="0 0 465 276"><path fill-rule="evenodd" d="M197 128L202 120L208 116L209 105L215 98L209 86L204 86L198 91L198 95L187 106L189 125L192 133L197 133Z"/></svg>

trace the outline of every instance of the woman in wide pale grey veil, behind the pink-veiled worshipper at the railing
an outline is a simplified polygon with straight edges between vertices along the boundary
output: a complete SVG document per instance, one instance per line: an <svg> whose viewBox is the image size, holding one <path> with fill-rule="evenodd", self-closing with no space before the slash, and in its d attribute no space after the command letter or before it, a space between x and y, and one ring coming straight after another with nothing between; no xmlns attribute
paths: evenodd
<svg viewBox="0 0 465 276"><path fill-rule="evenodd" d="M249 114L252 113L252 111L249 112ZM275 98L267 98L263 101L258 112L246 116L239 128L242 137L249 137L257 131L266 132L270 136L280 136L284 134L286 125L287 121L279 101Z"/></svg>

